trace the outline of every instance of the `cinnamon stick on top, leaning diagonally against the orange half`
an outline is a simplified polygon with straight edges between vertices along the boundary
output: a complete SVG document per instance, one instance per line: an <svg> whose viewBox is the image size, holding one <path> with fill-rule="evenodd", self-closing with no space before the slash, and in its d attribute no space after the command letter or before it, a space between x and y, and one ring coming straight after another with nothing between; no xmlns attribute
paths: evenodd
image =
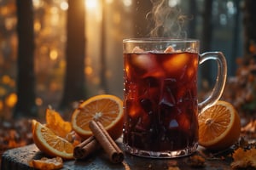
<svg viewBox="0 0 256 170"><path fill-rule="evenodd" d="M106 151L109 160L113 163L122 162L124 160L123 151L119 149L119 146L110 137L102 123L91 121L89 127L97 141L102 145L103 150Z"/></svg>

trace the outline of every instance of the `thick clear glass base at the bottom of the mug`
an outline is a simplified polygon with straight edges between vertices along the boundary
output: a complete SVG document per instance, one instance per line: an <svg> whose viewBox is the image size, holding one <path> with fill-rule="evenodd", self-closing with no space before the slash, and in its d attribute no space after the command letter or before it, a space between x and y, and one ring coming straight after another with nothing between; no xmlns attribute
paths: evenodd
<svg viewBox="0 0 256 170"><path fill-rule="evenodd" d="M124 145L125 151L135 156L143 156L148 158L177 158L183 156L190 156L195 153L198 144L195 143L193 146L185 148L183 150L166 150L166 151L150 151L150 150L140 150L131 147L128 144Z"/></svg>

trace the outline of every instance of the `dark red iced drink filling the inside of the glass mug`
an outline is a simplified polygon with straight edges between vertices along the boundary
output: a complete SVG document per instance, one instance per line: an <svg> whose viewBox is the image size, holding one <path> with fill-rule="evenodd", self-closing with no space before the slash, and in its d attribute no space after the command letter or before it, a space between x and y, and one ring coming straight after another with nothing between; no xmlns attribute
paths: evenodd
<svg viewBox="0 0 256 170"><path fill-rule="evenodd" d="M125 54L125 144L160 151L196 143L197 63L193 53Z"/></svg>

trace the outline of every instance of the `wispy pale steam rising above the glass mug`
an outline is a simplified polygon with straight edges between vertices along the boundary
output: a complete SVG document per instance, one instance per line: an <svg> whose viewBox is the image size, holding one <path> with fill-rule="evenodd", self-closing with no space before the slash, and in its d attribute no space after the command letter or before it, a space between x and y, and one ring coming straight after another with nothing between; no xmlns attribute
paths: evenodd
<svg viewBox="0 0 256 170"><path fill-rule="evenodd" d="M188 18L177 7L171 7L168 0L151 0L153 8L147 18L154 20L150 37L187 37L183 26Z"/></svg>

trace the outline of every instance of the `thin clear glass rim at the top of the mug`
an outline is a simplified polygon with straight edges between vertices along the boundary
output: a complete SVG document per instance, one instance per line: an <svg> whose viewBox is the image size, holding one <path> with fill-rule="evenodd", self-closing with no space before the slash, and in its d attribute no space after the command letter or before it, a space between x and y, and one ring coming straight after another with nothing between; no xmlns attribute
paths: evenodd
<svg viewBox="0 0 256 170"><path fill-rule="evenodd" d="M125 38L123 42L200 42L193 38L176 38L176 37L135 37Z"/></svg>

